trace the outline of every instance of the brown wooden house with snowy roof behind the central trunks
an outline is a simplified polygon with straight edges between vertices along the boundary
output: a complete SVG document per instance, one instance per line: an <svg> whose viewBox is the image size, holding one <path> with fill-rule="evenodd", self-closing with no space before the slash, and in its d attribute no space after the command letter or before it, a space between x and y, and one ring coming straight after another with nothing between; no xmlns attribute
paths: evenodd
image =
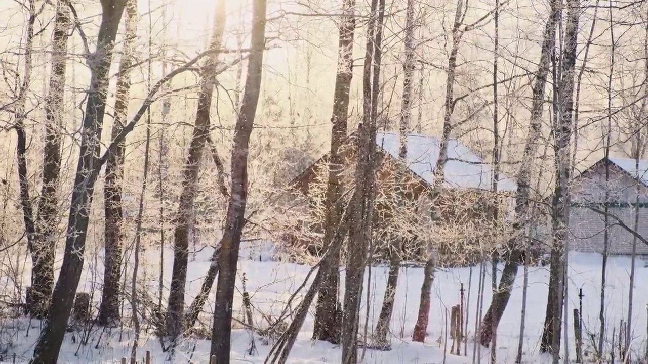
<svg viewBox="0 0 648 364"><path fill-rule="evenodd" d="M354 183L356 140L354 134L349 135L343 151L346 166L343 172L343 183L347 199L352 195L351 190ZM421 239L421 230L432 225L430 224L430 192L434 185L434 168L439 157L439 139L411 133L407 136L406 141L408 153L406 160L403 161L399 157L399 134L378 132L376 135L378 170L376 172L374 227L375 233L378 234L376 238L382 240L393 238L394 231L410 233L410 237L414 236L415 238L405 239L410 243L404 246L404 253L408 259L419 260L428 245L426 240L430 239L430 234ZM311 220L311 222L319 222L319 225L323 221L323 204L325 203L329 171L328 157L328 154L320 157L295 177L290 184L292 194L296 196L292 201L299 198L307 200L308 203L304 202L302 208L310 210L311 214L313 211L319 211L319 218ZM394 202L396 172L399 168L404 176L402 185L405 187L405 194L408 196L408 201L412 201L413 209L406 209L402 204ZM498 206L502 206L502 202L505 201L506 208L500 214L500 220L503 221L511 212L512 203L507 196L511 196L511 193L515 192L516 184L511 178L500 174L498 193L493 193L492 166L482 161L478 155L455 139L449 141L448 162L445 166L444 179L445 192L439 202L443 223L436 225L444 225L450 233L446 234L444 238L440 238L437 244L440 247L441 255L444 251L446 255L456 255L458 249L465 257L467 256L466 251L470 250L470 247L483 244L476 240L483 240L483 236L493 230L491 217L496 203ZM404 210L407 211L404 212ZM413 220L416 221L413 222ZM396 222L400 224L400 228L390 229L389 227ZM478 233L466 234L466 226L470 226L473 233ZM308 229L315 232L312 234L315 238L304 244L321 248L323 244L321 234L317 234L318 231L321 231L321 226L313 226L311 223ZM456 229L454 234L452 234L452 229ZM304 231L301 227L299 230ZM318 249L309 249L309 251L316 254ZM481 253L475 251L474 255L476 258L476 255L481 255ZM443 260L443 256L440 258Z"/></svg>

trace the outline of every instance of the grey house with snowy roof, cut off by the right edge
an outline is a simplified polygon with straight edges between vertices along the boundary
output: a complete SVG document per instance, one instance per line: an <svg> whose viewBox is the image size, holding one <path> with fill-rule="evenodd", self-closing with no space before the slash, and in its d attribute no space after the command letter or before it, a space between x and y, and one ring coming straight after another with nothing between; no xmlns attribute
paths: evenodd
<svg viewBox="0 0 648 364"><path fill-rule="evenodd" d="M603 253L607 227L610 255L630 255L635 240L636 253L648 255L648 245L635 239L615 218L608 217L606 226L601 214L607 205L608 214L648 239L648 160L640 160L637 168L635 159L603 158L572 179L570 193L568 249Z"/></svg>

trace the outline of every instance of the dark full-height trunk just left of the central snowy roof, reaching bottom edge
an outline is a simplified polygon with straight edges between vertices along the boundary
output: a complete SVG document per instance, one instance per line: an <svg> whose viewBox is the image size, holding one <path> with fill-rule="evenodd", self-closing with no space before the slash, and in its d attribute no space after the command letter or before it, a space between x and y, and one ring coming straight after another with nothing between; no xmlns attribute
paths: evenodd
<svg viewBox="0 0 648 364"><path fill-rule="evenodd" d="M367 29L367 50L363 73L363 117L358 126L358 156L355 170L356 188L353 196L353 218L347 249L347 267L341 324L342 363L358 363L358 326L360 301L367 250L373 227L376 170L376 122L380 95L380 61L385 1L371 1L371 17Z"/></svg>

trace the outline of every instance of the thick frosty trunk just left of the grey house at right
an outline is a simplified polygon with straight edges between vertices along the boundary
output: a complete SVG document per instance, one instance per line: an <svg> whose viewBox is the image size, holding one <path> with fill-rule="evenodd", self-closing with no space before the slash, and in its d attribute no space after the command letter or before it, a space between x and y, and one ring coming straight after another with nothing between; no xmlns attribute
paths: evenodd
<svg viewBox="0 0 648 364"><path fill-rule="evenodd" d="M555 126L556 146L554 148L556 160L556 179L552 201L552 242L551 242L551 269L549 280L549 293L547 299L547 312L544 321L544 330L540 342L541 352L550 352L553 363L559 362L561 348L562 306L564 295L564 242L567 238L569 226L569 182L571 172L570 144L572 138L572 113L574 91L574 68L576 63L576 49L578 38L578 21L580 14L580 1L569 0L567 23L565 25L564 47L562 49L561 83L557 99L559 106L559 120Z"/></svg>

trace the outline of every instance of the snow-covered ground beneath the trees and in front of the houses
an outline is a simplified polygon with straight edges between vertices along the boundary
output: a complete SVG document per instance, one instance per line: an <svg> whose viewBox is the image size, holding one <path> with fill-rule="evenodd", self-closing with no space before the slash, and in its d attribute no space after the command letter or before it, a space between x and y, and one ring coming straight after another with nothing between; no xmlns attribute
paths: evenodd
<svg viewBox="0 0 648 364"><path fill-rule="evenodd" d="M157 295L157 275L159 274L159 251L149 249L146 252L146 260L143 263L141 280L148 281L150 294ZM165 286L170 281L172 251L165 251L164 277ZM190 258L189 277L187 286L187 304L200 288L202 277L209 267L209 256L211 248L207 247ZM239 261L237 283L237 302L235 316L242 319L240 310L242 299L242 275L246 276L246 290L251 295L254 306L254 319L257 326L267 326L264 315L276 317L284 308L284 303L295 289L303 282L310 267L298 264L274 262L268 259L263 251L251 251L243 249ZM250 260L253 257L255 260ZM261 261L260 261L261 260ZM16 258L15 262L20 270L24 270L23 282L29 282L29 259ZM630 259L623 257L610 258L607 271L607 298L605 317L610 325L618 326L621 319L627 317L627 297L629 291ZM93 294L93 300L98 301L100 295L100 281L103 275L101 258L86 260L86 270L78 291L86 291ZM585 255L573 253L570 255L569 270L569 300L568 310L571 313L573 308L579 305L577 292L583 289L583 319L585 332L598 332L599 327L599 306L600 306L600 282L601 282L601 258L597 255ZM499 267L500 271L502 266ZM130 269L129 269L130 270ZM491 267L487 267L487 272ZM399 286L397 291L395 311L391 321L391 343L392 350L381 352L366 350L364 352L364 363L442 363L443 352L446 347L445 339L445 315L446 309L459 303L461 283L465 287L465 295L470 294L469 310L469 343L467 345L468 357L448 356L446 363L471 363L472 362L472 336L475 330L475 317L478 299L478 275L479 269L472 269L472 280L470 280L470 268L445 269L438 271L434 280L434 291L432 307L430 308L430 324L428 326L429 336L425 344L411 343L411 334L416 321L419 304L419 293L422 282L422 268L403 268L400 273ZM370 273L370 274L369 274ZM544 312L548 291L548 267L531 267L529 269L529 297L527 302L526 336L524 339L524 363L547 363L548 356L539 354L539 341L542 334ZM130 274L130 273L129 273ZM343 274L343 272L342 272ZM370 278L369 278L370 275ZM366 296L369 290L369 330L376 323L380 304L386 285L387 269L384 267L373 267L366 275L369 284L365 284ZM15 291L15 279L3 277L2 288L7 295ZM343 282L343 280L342 280ZM520 310L522 308L522 268L515 282L515 290L509 302L509 306L503 316L502 323L498 330L498 363L513 363L515 361L516 348L520 330ZM645 288L648 282L648 268L643 260L637 261L636 289L634 295L634 315L632 317L633 341L632 350L635 352L646 351L646 337L648 326L648 290ZM485 308L491 300L491 277L487 275L485 289ZM469 291L470 288L470 291ZM21 288L23 290L24 287ZM305 291L305 290L303 290ZM470 292L470 293L469 293ZM166 299L168 291L164 292ZM212 293L213 297L214 293ZM363 299L361 317L361 331L364 328L367 304ZM98 306L98 302L95 302ZM128 306L128 304L126 305ZM205 305L200 321L211 323L211 302ZM96 307L95 307L96 310ZM313 342L310 340L313 328L313 310L305 322L301 336L295 344L294 350L288 360L289 363L340 363L340 348L329 343ZM263 313L263 315L262 315ZM126 316L130 315L126 309ZM573 345L573 323L572 315L569 315L568 323L570 336L570 358L575 358ZM128 326L124 323L124 326ZM235 327L240 327L236 325ZM7 350L3 357L5 361L11 362L14 354L17 363L24 363L29 360L38 331L40 321L29 321L23 318L3 318L0 326L0 345L2 350ZM132 343L132 333L126 327L112 328L101 332L100 328L90 330L91 339L87 345L81 345L82 332L69 333L65 337L65 343L60 355L61 363L117 363L122 356L128 356ZM585 347L591 342L586 337ZM610 334L611 340L611 334ZM262 363L270 350L270 346L263 343L257 337L257 354L249 355L250 334L242 328L233 332L233 363ZM209 356L209 341L200 339L185 339L176 350L172 361L177 363L207 363ZM272 341L271 341L272 345ZM447 343L449 352L452 341ZM140 356L144 356L146 350L150 350L154 363L168 360L168 354L161 352L159 341L152 334L143 333L141 339ZM608 344L608 347L610 345ZM362 350L362 349L361 349ZM461 352L463 354L462 345ZM362 355L362 353L361 353ZM481 350L483 362L487 362L489 353L487 349Z"/></svg>

